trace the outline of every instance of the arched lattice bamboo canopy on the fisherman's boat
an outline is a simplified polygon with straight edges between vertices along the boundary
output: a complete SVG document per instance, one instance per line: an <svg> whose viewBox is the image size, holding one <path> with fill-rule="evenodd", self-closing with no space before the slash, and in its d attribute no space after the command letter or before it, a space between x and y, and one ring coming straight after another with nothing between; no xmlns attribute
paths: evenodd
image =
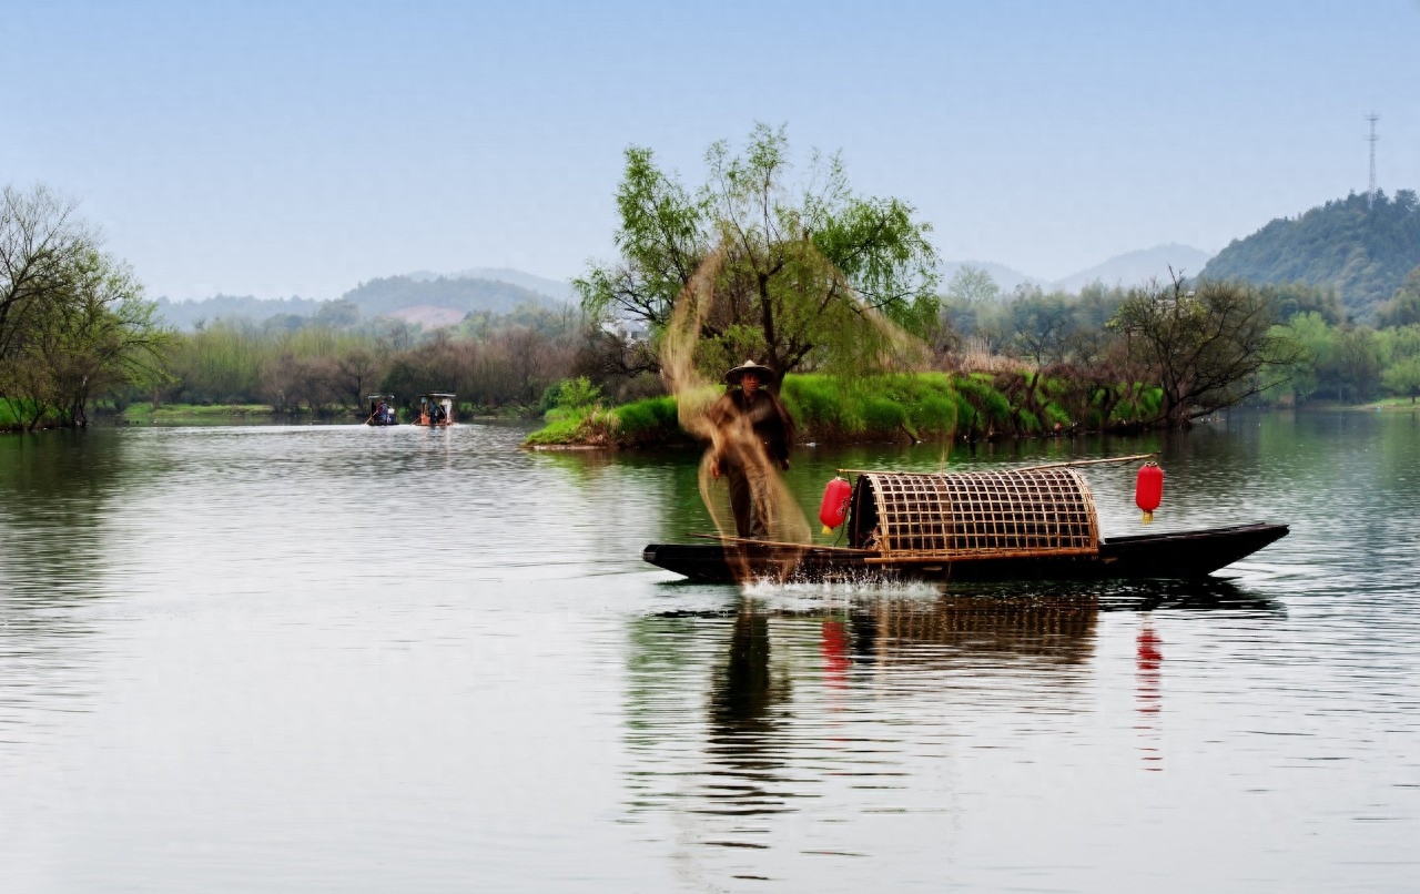
<svg viewBox="0 0 1420 894"><path fill-rule="evenodd" d="M1095 497L1072 468L863 473L852 505L853 546L878 551L876 561L1099 552Z"/></svg>

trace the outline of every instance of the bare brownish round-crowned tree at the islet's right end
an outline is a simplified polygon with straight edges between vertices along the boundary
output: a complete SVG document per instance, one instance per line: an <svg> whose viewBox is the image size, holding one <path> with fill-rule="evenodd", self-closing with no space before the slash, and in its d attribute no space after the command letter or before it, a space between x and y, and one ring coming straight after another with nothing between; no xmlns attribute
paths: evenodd
<svg viewBox="0 0 1420 894"><path fill-rule="evenodd" d="M1130 289L1109 325L1163 392L1152 421L1181 429L1288 379L1305 352L1275 322L1251 285L1174 277Z"/></svg>

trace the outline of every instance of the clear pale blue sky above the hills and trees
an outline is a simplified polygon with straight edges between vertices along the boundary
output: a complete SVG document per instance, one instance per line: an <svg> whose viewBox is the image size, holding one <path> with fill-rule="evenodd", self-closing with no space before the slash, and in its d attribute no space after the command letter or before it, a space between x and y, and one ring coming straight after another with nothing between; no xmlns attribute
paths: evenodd
<svg viewBox="0 0 1420 894"><path fill-rule="evenodd" d="M1420 0L0 0L0 182L81 202L149 294L332 298L613 254L629 145L692 183L788 125L946 260L1058 278L1420 187Z"/></svg>

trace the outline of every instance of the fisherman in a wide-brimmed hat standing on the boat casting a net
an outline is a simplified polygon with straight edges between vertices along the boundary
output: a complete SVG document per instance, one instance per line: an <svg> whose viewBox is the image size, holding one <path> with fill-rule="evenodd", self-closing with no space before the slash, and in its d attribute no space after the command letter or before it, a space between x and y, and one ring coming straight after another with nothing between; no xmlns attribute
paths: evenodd
<svg viewBox="0 0 1420 894"><path fill-rule="evenodd" d="M743 538L770 534L770 475L788 470L794 420L778 396L767 390L774 370L746 360L724 375L724 394L710 407L716 436L710 475L730 484L734 529Z"/></svg>

